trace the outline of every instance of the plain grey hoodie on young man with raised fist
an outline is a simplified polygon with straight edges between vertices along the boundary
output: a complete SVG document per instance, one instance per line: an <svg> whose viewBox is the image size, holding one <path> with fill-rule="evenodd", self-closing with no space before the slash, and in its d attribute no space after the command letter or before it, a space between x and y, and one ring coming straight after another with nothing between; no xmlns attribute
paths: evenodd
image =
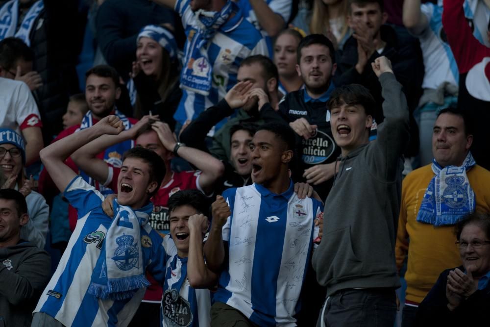
<svg viewBox="0 0 490 327"><path fill-rule="evenodd" d="M325 201L323 237L313 268L327 296L347 288L397 288L395 238L409 112L391 73L379 77L385 120L377 139L337 161L339 172Z"/></svg>

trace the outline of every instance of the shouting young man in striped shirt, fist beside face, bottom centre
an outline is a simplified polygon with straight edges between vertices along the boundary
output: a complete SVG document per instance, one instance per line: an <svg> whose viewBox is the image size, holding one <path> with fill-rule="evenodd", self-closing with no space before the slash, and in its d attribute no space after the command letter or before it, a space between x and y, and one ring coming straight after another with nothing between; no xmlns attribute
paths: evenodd
<svg viewBox="0 0 490 327"><path fill-rule="evenodd" d="M197 190L184 190L172 195L168 206L177 254L167 260L160 321L164 327L209 326L211 296L206 288L215 286L218 276L206 267L202 253L208 199Z"/></svg>

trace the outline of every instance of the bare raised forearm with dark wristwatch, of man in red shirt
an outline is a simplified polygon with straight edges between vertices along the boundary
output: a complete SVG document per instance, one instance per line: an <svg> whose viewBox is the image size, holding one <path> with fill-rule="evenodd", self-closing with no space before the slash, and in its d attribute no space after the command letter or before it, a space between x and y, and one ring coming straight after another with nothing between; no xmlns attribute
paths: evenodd
<svg viewBox="0 0 490 327"><path fill-rule="evenodd" d="M174 151L177 142L173 137L169 125L162 122L155 122L151 127L158 134L158 138L165 149ZM181 146L176 152L177 153L174 152L173 154L189 161L189 163L196 166L196 168L201 171L201 175L199 176L199 187L205 194L211 194L214 189L214 183L224 173L223 163L211 154L191 147Z"/></svg>

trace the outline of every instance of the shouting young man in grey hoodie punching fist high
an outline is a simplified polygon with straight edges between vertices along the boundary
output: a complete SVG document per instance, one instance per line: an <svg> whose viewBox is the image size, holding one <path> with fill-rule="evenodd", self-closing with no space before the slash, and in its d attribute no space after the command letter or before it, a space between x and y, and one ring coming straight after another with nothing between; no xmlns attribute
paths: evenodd
<svg viewBox="0 0 490 327"><path fill-rule="evenodd" d="M372 68L385 99L375 141L369 132L377 104L368 89L346 85L328 101L342 154L325 201L328 234L313 254L318 282L327 289L317 326L392 327L396 317L394 245L409 112L390 61L377 58Z"/></svg>

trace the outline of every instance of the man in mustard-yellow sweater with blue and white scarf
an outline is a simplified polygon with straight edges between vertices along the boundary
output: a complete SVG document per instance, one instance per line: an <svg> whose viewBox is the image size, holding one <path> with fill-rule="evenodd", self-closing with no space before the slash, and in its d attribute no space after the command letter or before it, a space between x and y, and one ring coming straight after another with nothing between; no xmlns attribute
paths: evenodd
<svg viewBox="0 0 490 327"><path fill-rule="evenodd" d="M398 270L408 254L407 317L415 317L441 271L461 264L454 226L468 213L490 212L490 172L473 159L472 141L464 112L441 110L433 128L432 164L403 180L395 253Z"/></svg>

